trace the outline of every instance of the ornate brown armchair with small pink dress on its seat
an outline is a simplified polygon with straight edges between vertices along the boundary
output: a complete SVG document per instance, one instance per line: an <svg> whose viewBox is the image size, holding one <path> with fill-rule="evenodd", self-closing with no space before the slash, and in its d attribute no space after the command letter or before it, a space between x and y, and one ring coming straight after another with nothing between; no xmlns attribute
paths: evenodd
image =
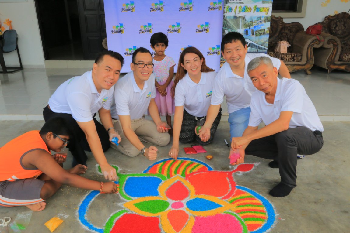
<svg viewBox="0 0 350 233"><path fill-rule="evenodd" d="M320 40L322 38L318 36ZM274 49L279 41L288 41L288 53L275 53ZM271 15L270 34L268 38L267 54L281 59L289 72L304 70L311 74L314 65L313 48L323 44L316 36L306 34L304 27L297 22L285 23L282 17Z"/></svg>

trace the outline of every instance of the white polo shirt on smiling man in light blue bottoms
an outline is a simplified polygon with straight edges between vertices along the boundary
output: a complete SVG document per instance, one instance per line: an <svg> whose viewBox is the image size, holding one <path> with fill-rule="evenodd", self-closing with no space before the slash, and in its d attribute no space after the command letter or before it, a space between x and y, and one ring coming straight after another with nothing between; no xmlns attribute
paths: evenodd
<svg viewBox="0 0 350 233"><path fill-rule="evenodd" d="M247 74L247 65L253 58L260 56L269 57L272 60L273 66L279 70L281 66L280 59L270 57L265 53L246 54L244 59L244 77L234 74L230 65L226 62L220 68L215 77L211 104L221 104L223 102L224 95L226 95L226 103L229 114L239 109L249 107L250 98L252 93L255 92L256 88Z"/></svg>

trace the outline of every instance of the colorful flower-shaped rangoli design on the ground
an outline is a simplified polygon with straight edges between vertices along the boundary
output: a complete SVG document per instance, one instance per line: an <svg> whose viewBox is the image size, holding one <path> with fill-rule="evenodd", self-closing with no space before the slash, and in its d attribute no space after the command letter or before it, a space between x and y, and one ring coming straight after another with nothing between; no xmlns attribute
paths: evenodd
<svg viewBox="0 0 350 233"><path fill-rule="evenodd" d="M253 167L241 164L221 172L195 159L161 160L141 174L118 173L124 209L112 213L103 228L86 217L98 191L80 203L78 218L98 233L266 232L275 221L273 206L233 179L235 172Z"/></svg>

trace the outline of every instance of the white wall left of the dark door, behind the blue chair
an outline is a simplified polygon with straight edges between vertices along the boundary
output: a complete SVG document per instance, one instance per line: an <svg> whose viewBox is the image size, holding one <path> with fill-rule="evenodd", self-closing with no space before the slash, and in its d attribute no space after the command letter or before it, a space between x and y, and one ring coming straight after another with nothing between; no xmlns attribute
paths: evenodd
<svg viewBox="0 0 350 233"><path fill-rule="evenodd" d="M12 28L18 34L18 48L22 64L26 68L44 68L44 53L34 0L28 2L0 3L0 21L12 20ZM4 54L6 64L19 64L17 53Z"/></svg>

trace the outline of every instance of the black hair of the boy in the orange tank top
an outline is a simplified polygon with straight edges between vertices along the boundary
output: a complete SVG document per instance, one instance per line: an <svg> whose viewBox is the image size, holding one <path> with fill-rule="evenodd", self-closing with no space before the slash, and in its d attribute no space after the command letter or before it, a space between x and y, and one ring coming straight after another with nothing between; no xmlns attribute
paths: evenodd
<svg viewBox="0 0 350 233"><path fill-rule="evenodd" d="M54 117L49 119L41 128L39 134L41 136L44 136L48 132L55 133L56 135L64 135L69 137L71 137L72 135L70 129L68 128L68 122L66 122L66 120L62 117ZM56 138L55 135L54 138Z"/></svg>

